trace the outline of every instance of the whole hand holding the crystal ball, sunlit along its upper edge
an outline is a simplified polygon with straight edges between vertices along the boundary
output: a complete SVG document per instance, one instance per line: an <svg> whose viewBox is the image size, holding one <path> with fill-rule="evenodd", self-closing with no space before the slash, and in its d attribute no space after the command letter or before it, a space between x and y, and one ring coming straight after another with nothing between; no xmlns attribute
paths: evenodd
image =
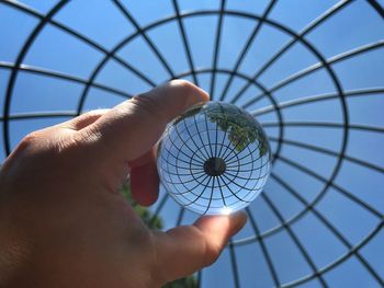
<svg viewBox="0 0 384 288"><path fill-rule="evenodd" d="M176 80L26 136L0 170L0 287L160 287L211 265L244 212L154 232L118 192L129 173L136 201L156 201L156 141L207 100Z"/></svg>

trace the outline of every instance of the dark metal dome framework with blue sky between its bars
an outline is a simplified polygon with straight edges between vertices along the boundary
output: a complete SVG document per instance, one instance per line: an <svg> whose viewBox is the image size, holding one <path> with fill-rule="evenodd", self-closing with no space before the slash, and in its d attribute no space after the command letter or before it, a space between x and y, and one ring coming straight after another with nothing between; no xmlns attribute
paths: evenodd
<svg viewBox="0 0 384 288"><path fill-rule="evenodd" d="M1 158L176 78L247 110L268 185L201 287L384 287L383 1L0 1ZM161 187L167 227L195 215Z"/></svg>

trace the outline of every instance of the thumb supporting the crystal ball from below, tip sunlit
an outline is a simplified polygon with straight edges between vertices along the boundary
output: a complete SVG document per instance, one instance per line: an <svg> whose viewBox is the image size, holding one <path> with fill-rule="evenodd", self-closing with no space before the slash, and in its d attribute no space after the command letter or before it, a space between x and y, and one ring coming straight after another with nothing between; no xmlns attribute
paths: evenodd
<svg viewBox="0 0 384 288"><path fill-rule="evenodd" d="M246 220L244 211L229 216L204 216L193 226L157 232L157 278L171 281L211 265Z"/></svg>

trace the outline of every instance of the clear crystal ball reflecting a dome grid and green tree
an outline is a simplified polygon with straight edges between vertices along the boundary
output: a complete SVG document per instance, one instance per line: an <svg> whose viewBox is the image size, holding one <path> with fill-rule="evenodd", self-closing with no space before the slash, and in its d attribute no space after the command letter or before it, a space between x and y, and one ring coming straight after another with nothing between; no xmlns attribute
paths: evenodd
<svg viewBox="0 0 384 288"><path fill-rule="evenodd" d="M271 158L266 133L249 113L211 101L167 126L157 168L161 184L182 207L223 215L247 207L260 194Z"/></svg>

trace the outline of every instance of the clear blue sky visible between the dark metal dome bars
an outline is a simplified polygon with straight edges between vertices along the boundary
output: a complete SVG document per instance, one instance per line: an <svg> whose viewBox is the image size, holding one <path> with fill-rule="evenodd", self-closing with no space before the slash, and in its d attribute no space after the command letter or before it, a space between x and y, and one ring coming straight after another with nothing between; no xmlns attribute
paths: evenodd
<svg viewBox="0 0 384 288"><path fill-rule="evenodd" d="M57 1L25 0L21 2L38 13L45 14ZM383 1L379 2L383 4ZM172 1L126 0L122 3L134 16L136 23L144 28L158 20L168 19L160 25L150 26L146 30L146 35L157 46L174 76L193 80L192 76L188 73L190 65L178 23L172 19L174 15ZM212 11L221 7L219 1L213 0L182 0L178 3L183 13ZM269 1L264 0L228 0L226 2L225 9L237 12L226 14L223 18L216 65L218 73L215 77L214 94L211 95L213 99L217 100L223 95L224 87L228 80L227 71L234 69L246 39L258 23L258 16L263 14L268 4ZM337 1L329 0L278 1L270 11L267 23L261 26L239 65L238 73L231 81L225 101L231 101L246 84L246 78L255 74L285 43L292 39L293 34L300 33L308 23L335 4ZM240 13L246 16L240 18ZM71 1L55 14L54 21L87 36L94 45L80 42L74 35L58 28L57 25L47 24L29 48L23 59L24 65L59 71L87 81L92 76L93 69L105 57L104 53L94 46L99 45L104 50L112 50L121 41L128 37L126 44L115 51L115 57L109 58L100 68L100 71L94 76L94 83L116 89L127 95L134 95L150 89L151 84L160 84L171 79L171 74L149 48L146 39L140 35L135 35L134 24L111 1L97 0L92 1L92 4L89 1ZM192 60L195 68L201 70L196 76L199 84L208 92L212 90L210 69L214 62L213 51L217 22L216 13L183 19ZM0 3L1 103L4 103L11 74L7 66L15 61L26 37L37 24L38 20L31 14L18 11L12 5ZM280 25L284 25L287 30L285 32L279 30ZM343 257L351 246L359 245L381 223L377 216L357 204L353 197L363 200L379 214L384 214L384 177L382 172L384 168L384 154L382 153L384 134L364 129L349 129L348 143L345 147L349 160L342 161L339 171L334 175L334 185L315 205L315 210L340 231L348 242L346 244L330 232L316 212L303 212L305 210L303 199L307 203L316 199L324 189L324 180L328 180L332 175L338 163L335 153L339 153L342 148L343 131L340 127L294 125L294 123L303 122L341 125L346 120L341 113L342 102L336 96L302 105L290 106L287 104L289 101L313 95L337 95L338 88L332 81L331 72L347 94L359 89L383 89L383 45L369 53L361 53L343 61L336 61L331 65L331 72L319 68L281 88L279 84L284 83L285 79L292 74L318 64L319 57L332 59L342 53L363 45L383 42L383 19L366 1L352 1L317 28L306 34L304 41L296 42L258 78L259 85L251 84L235 103L245 105L257 95L261 95L262 89L272 89L273 100L280 105L286 106L281 108L283 122L293 123L293 125L284 127L285 142L281 147L281 158L275 161L273 166L273 174L276 177L269 180L263 192L266 197L259 196L249 207L259 232L266 235L263 243L252 240L256 232L251 221L234 239L234 241L240 241L240 244L234 250L240 287L274 286L263 249L267 249L281 284L294 281L313 273L310 265L297 249L292 233L303 244L317 269L321 269ZM317 56L314 50L310 50L310 47L318 53ZM129 71L126 66L122 65L122 61L140 71L149 81L144 81ZM76 113L83 90L84 85L81 81L75 83L21 71L18 73L13 89L10 114L64 111ZM124 100L125 97L117 93L91 87L84 99L82 111L111 107ZM258 114L271 105L273 102L268 96L262 96L259 102L248 105L247 110ZM373 91L372 93L347 96L345 107L348 110L348 119L352 126L383 127L384 125L383 92ZM13 148L25 134L65 119L67 117L11 120L9 124L11 147ZM276 139L280 135L280 128L276 126L279 114L271 108L269 113L258 115L257 119L264 124L272 151L275 152L278 149ZM1 135L2 129L1 123ZM295 142L316 146L332 151L334 154L313 151L303 148L303 146L294 145ZM0 158L4 159L4 157L3 137L1 137ZM354 161L355 159L371 163L379 169L366 169L359 164L359 161ZM312 171L317 177L303 170L297 170L292 165L292 161ZM279 180L296 191L302 200L293 196ZM165 195L163 191L161 191L162 195ZM348 195L352 195L352 197ZM268 199L280 211L280 216L268 205ZM151 209L156 210L159 203ZM172 199L166 200L160 209L160 215L165 219L167 228L174 226L179 210ZM297 215L303 216L297 218ZM195 217L192 212L185 212L182 223L190 223ZM290 223L292 221L290 230L281 229L280 217ZM359 252L359 255L371 264L382 279L384 278L383 241L384 230L381 229ZM230 260L230 251L226 250L215 265L206 268L202 274L203 287L235 287ZM346 258L336 268L325 273L324 280L331 287L379 287L377 281L355 255ZM302 287L321 286L318 279L313 279Z"/></svg>

